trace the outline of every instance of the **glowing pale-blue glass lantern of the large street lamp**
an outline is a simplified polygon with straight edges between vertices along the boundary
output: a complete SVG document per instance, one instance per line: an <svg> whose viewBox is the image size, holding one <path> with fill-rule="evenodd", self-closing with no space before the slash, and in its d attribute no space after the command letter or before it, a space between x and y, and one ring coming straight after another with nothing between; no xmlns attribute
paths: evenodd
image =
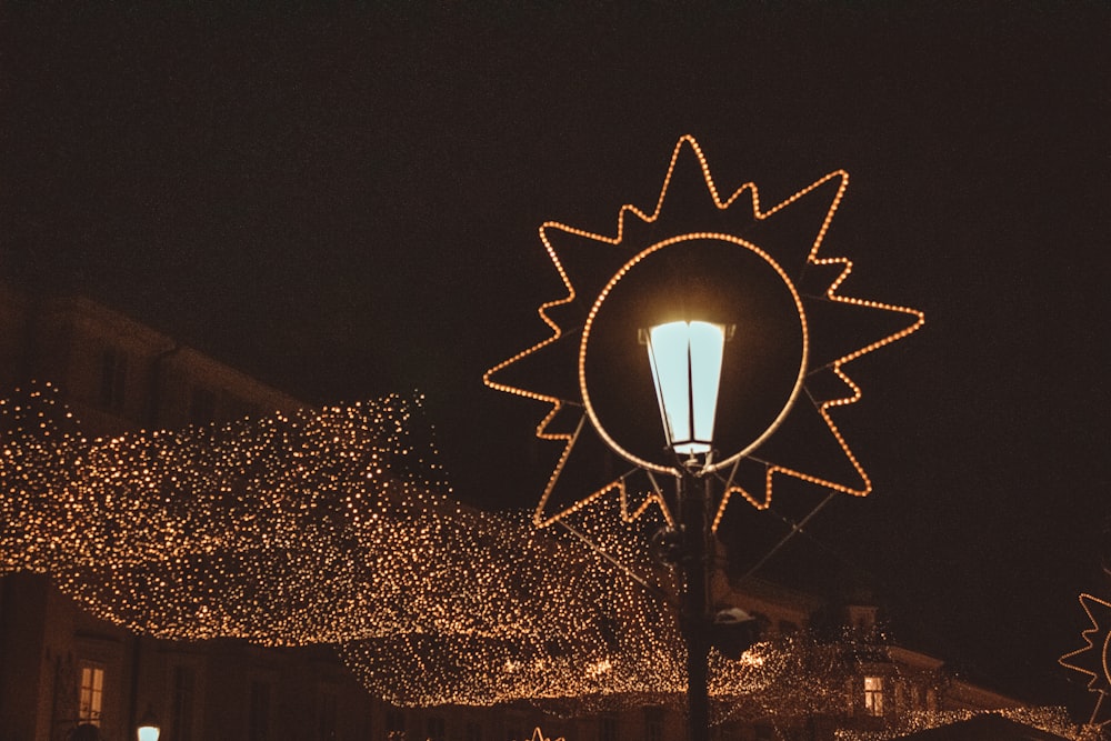
<svg viewBox="0 0 1111 741"><path fill-rule="evenodd" d="M684 455L710 452L725 327L675 321L653 327L647 334L668 444Z"/></svg>

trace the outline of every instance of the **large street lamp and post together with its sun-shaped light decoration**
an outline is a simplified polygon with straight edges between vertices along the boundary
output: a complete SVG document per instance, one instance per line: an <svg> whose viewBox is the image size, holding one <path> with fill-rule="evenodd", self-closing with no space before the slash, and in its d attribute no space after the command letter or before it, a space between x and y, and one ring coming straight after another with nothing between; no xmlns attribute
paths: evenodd
<svg viewBox="0 0 1111 741"><path fill-rule="evenodd" d="M831 492L868 495L871 481L830 413L861 395L843 366L911 334L924 322L917 309L840 292L852 263L821 248L847 186L848 173L838 170L775 206L762 207L751 182L731 194L719 191L701 148L693 138L681 138L655 210L622 207L614 237L558 222L540 228L567 290L565 297L539 309L553 334L483 377L492 389L551 404L536 434L564 448L533 514L538 527L559 522L570 528L565 518L613 491L625 521L658 507L669 523L653 537L651 548L685 577L682 628L691 741L709 734L709 648L739 655L742 639L754 628L751 615L743 612L709 614L709 544L727 503L740 493L764 509L771 503L773 480L784 477ZM670 189L685 193L679 203L690 206L689 214L671 206ZM703 199L701 206L685 200L692 196ZM824 217L815 219L820 214ZM704 223L707 230L691 229L708 217L712 218ZM753 241L763 237L772 251ZM792 262L782 264L784 258ZM808 271L812 266L823 267ZM828 266L841 270L828 272ZM834 274L831 283L821 284L822 276ZM795 286L803 276L807 292ZM837 332L829 337L828 329L849 309L864 309L875 318L854 318L852 324L860 328L858 339L872 332L874 339L841 347ZM899 328L889 323L893 314L901 316ZM731 348L725 357L728 327L705 321L655 326L663 318L743 318L744 346ZM649 346L651 380L633 342L635 328L644 327L651 327L640 332ZM827 328L824 339L820 328ZM855 337L857 330L851 334ZM813 353L812 338L820 340ZM570 369L559 367L560 358L565 361L572 354L569 344L578 344L577 384ZM819 369L830 372L814 373ZM735 382L721 388L723 372ZM811 378L822 379L820 388L807 387ZM652 432L651 383L667 448ZM723 413L715 420L719 391ZM795 404L804 398L813 404ZM581 410L578 424L573 424L575 410ZM819 455L810 452L819 450L810 444L761 449L783 424L790 424L795 435L818 435L814 440L822 450L840 455ZM601 467L592 468L590 461L597 460L600 448L644 472L648 485L632 483L634 472L613 477ZM745 460L758 449L762 460ZM655 474L675 477L678 511L660 492ZM724 482L721 497L709 491L714 479ZM642 498L635 509L630 493ZM712 519L711 501L719 502Z"/></svg>

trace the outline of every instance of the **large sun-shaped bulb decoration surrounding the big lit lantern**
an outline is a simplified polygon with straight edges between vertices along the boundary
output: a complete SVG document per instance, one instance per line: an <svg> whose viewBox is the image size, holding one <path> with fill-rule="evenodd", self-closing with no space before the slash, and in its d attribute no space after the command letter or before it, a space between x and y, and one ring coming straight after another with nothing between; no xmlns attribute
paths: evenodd
<svg viewBox="0 0 1111 741"><path fill-rule="evenodd" d="M852 262L821 248L848 179L831 172L762 208L751 182L722 197L688 136L651 212L623 206L612 236L540 227L567 294L539 309L550 337L483 377L490 388L551 405L537 437L562 452L536 524L608 492L620 497L625 520L657 505L673 523L655 474L678 475L678 463L663 450L637 329L692 312L735 330L717 451L704 468L724 481L713 528L734 494L767 508L781 475L858 497L871 491L831 413L861 397L843 366L914 332L924 317L840 292ZM632 469L615 471L610 451Z"/></svg>

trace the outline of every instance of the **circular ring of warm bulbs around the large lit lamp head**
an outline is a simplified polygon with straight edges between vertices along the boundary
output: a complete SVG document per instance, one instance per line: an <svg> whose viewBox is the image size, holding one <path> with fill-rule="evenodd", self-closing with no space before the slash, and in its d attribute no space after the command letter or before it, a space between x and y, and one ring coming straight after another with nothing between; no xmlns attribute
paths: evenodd
<svg viewBox="0 0 1111 741"><path fill-rule="evenodd" d="M579 341L579 391L582 394L582 403L587 411L587 415L590 419L591 424L594 427L594 430L597 430L598 434L602 438L605 444L610 447L611 450L613 450L615 453L618 453L625 460L630 461L631 463L640 468L648 469L650 471L658 471L660 473L671 473L674 475L680 474L680 471L677 467L654 463L652 461L645 460L644 458L625 450L625 448L621 445L617 440L614 440L613 437L602 425L601 420L598 417L598 412L594 408L594 404L591 403L590 393L587 390L587 370L585 370L587 344L590 341L591 327L593 326L594 319L598 316L598 311L601 308L602 303L605 301L605 298L613 290L613 287L617 286L618 282L620 282L621 279L624 278L625 274L628 274L628 272L632 270L634 266L637 266L641 260L643 260L648 256L665 247L671 247L673 244L691 240L720 240L724 242L731 242L733 244L737 244L741 248L749 250L753 254L763 259L764 262L767 262L775 271L779 278L783 281L783 286L785 286L787 290L791 293L791 299L793 300L795 310L798 311L799 327L801 330L801 338L802 338L802 352L801 352L801 360L799 363L799 371L798 374L795 375L794 384L791 388L791 392L788 395L788 399L784 402L782 409L780 409L779 414L775 415L774 420L771 422L771 424L768 425L768 428L763 430L762 433L760 433L755 439L753 439L751 442L744 445L744 448L727 455L725 458L719 461L713 461L712 463L705 467L704 472L718 471L728 465L732 465L735 461L740 460L741 458L744 458L745 455L750 454L753 450L759 448L761 444L763 444L763 442L767 441L768 438L770 438L775 432L777 429L779 429L780 424L782 424L783 420L787 419L787 414L791 411L791 408L794 405L795 400L799 398L799 393L802 391L803 381L805 380L807 369L810 362L810 331L807 324L807 313L802 307L802 297L799 294L798 289L794 287L794 282L787 274L787 271L784 271L783 268L778 262L775 262L775 260L770 254L761 250L755 244L752 244L751 242L748 242L734 234L724 234L718 232L690 232L685 234L679 234L677 237L671 237L661 242L657 242L655 244L652 244L651 247L637 253L632 259L625 262L621 267L621 269L618 270L618 272L614 273L614 276L609 280L609 282L605 284L602 291L598 294L598 298L594 300L593 306L590 308L590 312L587 314L587 321L582 328L582 339Z"/></svg>

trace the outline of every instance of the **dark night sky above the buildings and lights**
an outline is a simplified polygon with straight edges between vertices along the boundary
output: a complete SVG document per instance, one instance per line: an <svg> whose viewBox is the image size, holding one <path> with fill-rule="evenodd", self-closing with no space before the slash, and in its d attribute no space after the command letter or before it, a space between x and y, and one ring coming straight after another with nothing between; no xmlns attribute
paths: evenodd
<svg viewBox="0 0 1111 741"><path fill-rule="evenodd" d="M867 573L897 637L1062 697L1075 595L1111 597L1111 7L516 4L3 3L0 274L309 401L419 389L457 494L531 508L544 409L481 374L544 337L539 224L611 232L684 133L767 202L843 168L847 292L928 324L850 367L875 493L782 559Z"/></svg>

